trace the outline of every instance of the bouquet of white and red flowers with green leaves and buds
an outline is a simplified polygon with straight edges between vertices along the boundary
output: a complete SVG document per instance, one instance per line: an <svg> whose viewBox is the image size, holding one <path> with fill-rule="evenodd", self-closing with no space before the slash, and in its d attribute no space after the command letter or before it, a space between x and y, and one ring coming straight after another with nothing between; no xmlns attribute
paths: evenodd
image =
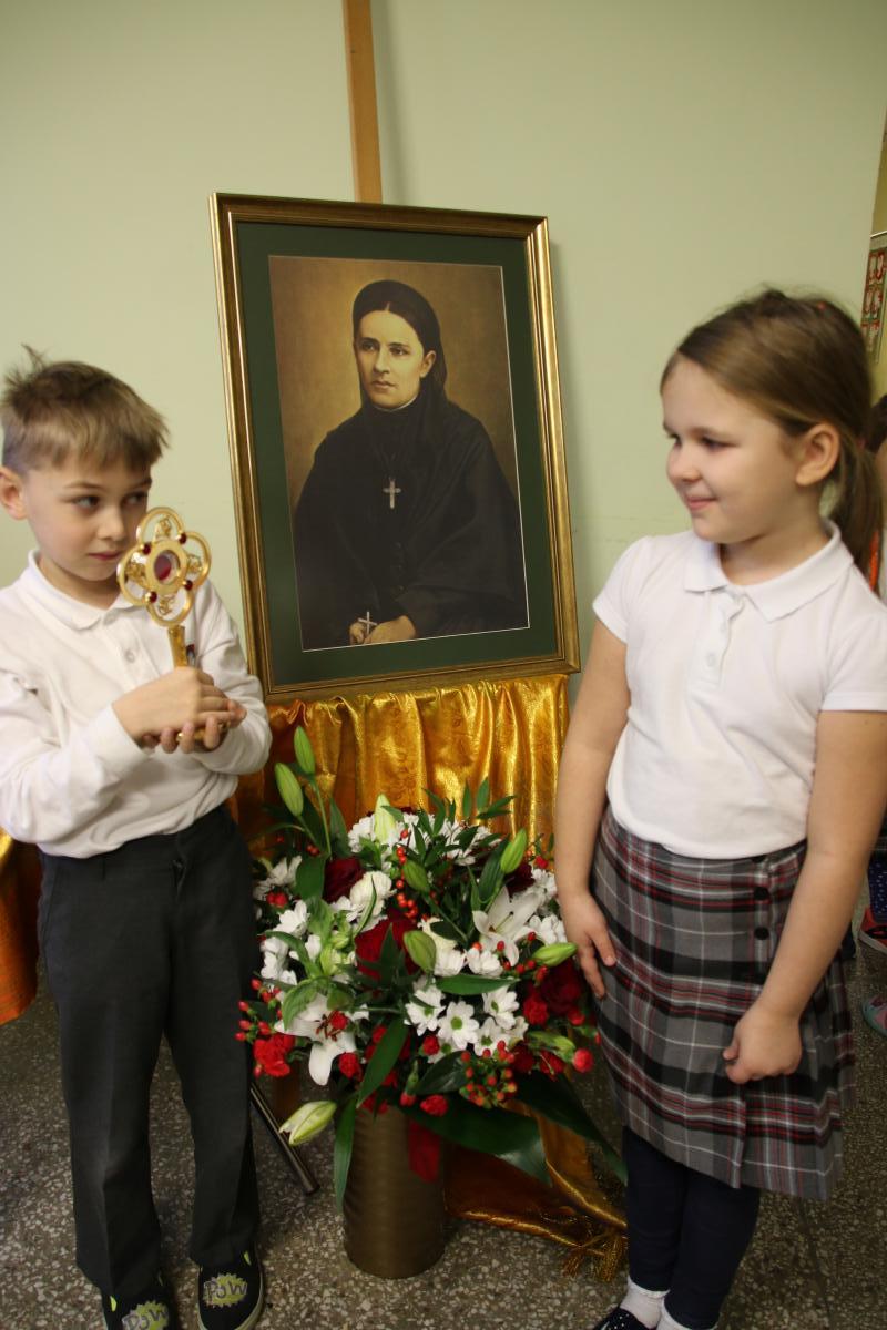
<svg viewBox="0 0 887 1330"><path fill-rule="evenodd" d="M434 794L431 811L380 797L348 829L320 795L305 730L294 747L275 767L279 851L257 862L263 963L238 1032L257 1076L306 1060L332 1089L285 1124L291 1142L338 1116L339 1204L355 1113L391 1107L424 1177L444 1138L548 1181L532 1113L593 1141L621 1177L567 1075L590 1068L596 1029L548 859L524 831L492 826L509 799L491 802L487 782L459 810Z"/></svg>

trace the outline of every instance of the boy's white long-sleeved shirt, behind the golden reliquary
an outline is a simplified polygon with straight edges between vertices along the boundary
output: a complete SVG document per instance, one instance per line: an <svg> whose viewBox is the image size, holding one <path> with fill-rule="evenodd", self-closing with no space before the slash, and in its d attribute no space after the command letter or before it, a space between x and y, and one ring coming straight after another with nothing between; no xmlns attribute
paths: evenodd
<svg viewBox="0 0 887 1330"><path fill-rule="evenodd" d="M258 770L270 730L258 680L214 587L185 622L198 665L246 720L213 751L162 753L129 738L113 702L172 669L168 634L122 596L108 609L53 587L35 555L0 589L0 826L49 854L86 858L181 831Z"/></svg>

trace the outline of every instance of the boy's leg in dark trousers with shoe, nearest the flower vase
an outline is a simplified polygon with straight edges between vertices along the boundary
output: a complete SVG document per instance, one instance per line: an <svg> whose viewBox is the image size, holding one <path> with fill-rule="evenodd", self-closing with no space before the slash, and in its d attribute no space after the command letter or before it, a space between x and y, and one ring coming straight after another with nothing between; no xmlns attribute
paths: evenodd
<svg viewBox="0 0 887 1330"><path fill-rule="evenodd" d="M177 838L168 1037L194 1137L190 1254L201 1269L201 1325L210 1330L215 1325L213 1290L218 1290L215 1310L225 1326L225 1298L231 1289L242 1291L238 1326L255 1323L263 1298L254 1250L259 1205L250 1130L250 1056L249 1047L234 1037L238 1001L251 996L259 952L246 845L225 809L203 823Z"/></svg>

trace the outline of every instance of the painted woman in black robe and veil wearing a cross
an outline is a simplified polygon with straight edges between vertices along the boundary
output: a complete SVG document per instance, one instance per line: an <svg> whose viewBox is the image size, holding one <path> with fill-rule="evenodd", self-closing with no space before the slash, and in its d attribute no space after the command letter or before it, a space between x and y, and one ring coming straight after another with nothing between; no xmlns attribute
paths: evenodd
<svg viewBox="0 0 887 1330"><path fill-rule="evenodd" d="M320 443L293 519L303 649L524 626L517 504L447 398L435 311L371 282L352 338L360 408Z"/></svg>

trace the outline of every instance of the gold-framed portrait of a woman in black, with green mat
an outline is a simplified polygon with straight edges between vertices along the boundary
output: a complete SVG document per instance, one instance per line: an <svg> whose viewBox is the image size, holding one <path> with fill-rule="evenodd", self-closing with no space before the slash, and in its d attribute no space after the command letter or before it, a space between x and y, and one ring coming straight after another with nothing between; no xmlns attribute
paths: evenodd
<svg viewBox="0 0 887 1330"><path fill-rule="evenodd" d="M269 700L578 668L541 217L211 198Z"/></svg>

